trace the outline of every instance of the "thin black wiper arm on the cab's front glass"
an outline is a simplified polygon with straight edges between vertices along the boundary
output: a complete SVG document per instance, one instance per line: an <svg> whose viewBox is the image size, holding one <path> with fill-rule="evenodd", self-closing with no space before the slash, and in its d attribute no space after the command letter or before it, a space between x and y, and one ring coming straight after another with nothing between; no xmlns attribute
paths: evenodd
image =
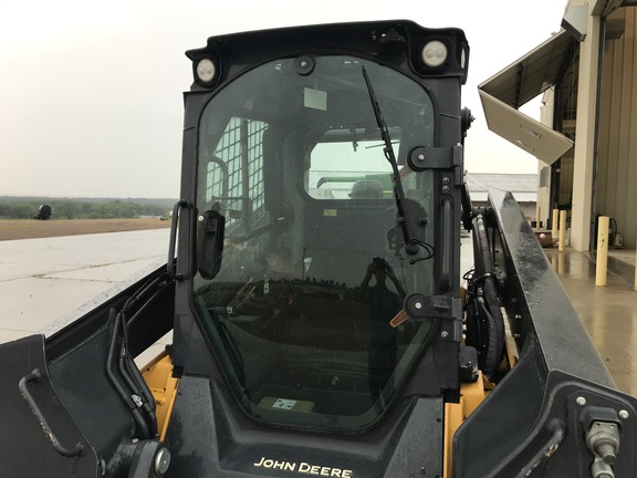
<svg viewBox="0 0 637 478"><path fill-rule="evenodd" d="M367 85L367 92L369 92L369 101L374 108L374 116L376 116L376 123L378 124L378 129L380 131L380 138L385 143L383 152L385 157L391 165L391 170L394 177L391 183L394 183L394 199L396 200L396 209L398 210L398 225L403 231L403 239L405 240L405 251L409 256L416 256L418 253L418 246L420 241L411 235L409 228L409 222L405 215L405 190L403 189L403 181L400 180L400 173L398 172L398 163L396 163L396 155L394 154L394 146L391 146L391 138L389 137L389 129L387 128L387 123L383 117L383 112L380 111L380 104L378 103L378 97L374 92L369 76L367 75L367 70L365 66L363 69L363 76L365 77L365 84ZM429 251L427 259L430 257L431 251Z"/></svg>

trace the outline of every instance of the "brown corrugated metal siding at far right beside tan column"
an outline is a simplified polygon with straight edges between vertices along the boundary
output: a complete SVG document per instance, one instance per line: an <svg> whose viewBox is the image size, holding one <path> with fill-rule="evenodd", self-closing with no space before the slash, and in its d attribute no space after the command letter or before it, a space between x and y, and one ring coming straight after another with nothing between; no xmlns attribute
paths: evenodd
<svg viewBox="0 0 637 478"><path fill-rule="evenodd" d="M595 214L637 242L637 7L626 8L622 38L605 45Z"/></svg>

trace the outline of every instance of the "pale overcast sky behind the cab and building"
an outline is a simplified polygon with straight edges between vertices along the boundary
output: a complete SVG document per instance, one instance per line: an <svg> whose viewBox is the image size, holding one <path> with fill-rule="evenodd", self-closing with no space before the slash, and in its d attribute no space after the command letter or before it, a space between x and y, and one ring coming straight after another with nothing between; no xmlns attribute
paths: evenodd
<svg viewBox="0 0 637 478"><path fill-rule="evenodd" d="M191 83L186 50L221 33L378 19L463 29L471 48L463 104L477 118L466 144L467 169L535 173L535 158L487 129L477 85L560 30L565 6L566 0L2 1L0 196L177 198L181 92Z"/></svg>

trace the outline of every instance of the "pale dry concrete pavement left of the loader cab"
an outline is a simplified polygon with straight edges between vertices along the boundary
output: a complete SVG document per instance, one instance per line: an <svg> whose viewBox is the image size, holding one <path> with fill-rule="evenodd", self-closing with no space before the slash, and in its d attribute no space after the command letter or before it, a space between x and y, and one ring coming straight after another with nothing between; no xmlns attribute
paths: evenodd
<svg viewBox="0 0 637 478"><path fill-rule="evenodd" d="M166 263L168 237L155 229L0 241L0 343L50 335Z"/></svg>

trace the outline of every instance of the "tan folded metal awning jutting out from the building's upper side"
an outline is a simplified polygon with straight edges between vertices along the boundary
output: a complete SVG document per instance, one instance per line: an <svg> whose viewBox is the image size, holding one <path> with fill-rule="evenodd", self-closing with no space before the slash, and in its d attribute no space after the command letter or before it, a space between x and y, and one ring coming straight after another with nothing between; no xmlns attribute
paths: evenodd
<svg viewBox="0 0 637 478"><path fill-rule="evenodd" d="M562 30L478 86L489 129L546 164L557 160L573 142L518 108L560 82L575 46Z"/></svg>

